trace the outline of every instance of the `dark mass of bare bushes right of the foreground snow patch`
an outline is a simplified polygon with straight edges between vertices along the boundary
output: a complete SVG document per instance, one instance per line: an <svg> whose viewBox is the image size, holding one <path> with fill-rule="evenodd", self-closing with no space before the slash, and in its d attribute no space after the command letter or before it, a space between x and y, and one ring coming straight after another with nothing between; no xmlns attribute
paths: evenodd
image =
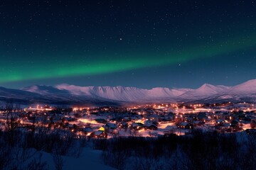
<svg viewBox="0 0 256 170"><path fill-rule="evenodd" d="M240 137L238 137L240 136ZM100 148L99 144L104 147ZM117 137L95 142L117 169L255 169L256 135L194 130L192 135Z"/></svg>

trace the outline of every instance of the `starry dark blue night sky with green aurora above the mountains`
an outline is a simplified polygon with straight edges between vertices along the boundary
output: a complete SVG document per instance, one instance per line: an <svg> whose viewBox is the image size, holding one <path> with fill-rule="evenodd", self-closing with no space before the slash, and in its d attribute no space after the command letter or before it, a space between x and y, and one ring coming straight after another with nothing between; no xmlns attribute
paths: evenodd
<svg viewBox="0 0 256 170"><path fill-rule="evenodd" d="M0 1L0 86L256 79L256 1Z"/></svg>

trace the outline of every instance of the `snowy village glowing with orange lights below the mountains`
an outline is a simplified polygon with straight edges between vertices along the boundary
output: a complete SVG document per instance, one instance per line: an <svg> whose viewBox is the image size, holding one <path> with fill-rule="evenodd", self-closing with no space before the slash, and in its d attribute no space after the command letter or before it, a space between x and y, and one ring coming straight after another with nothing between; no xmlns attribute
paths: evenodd
<svg viewBox="0 0 256 170"><path fill-rule="evenodd" d="M6 122L16 129L68 130L75 137L159 137L187 135L193 130L220 133L256 128L254 103L160 103L142 106L58 108L36 105L28 108L1 108L1 130Z"/></svg>

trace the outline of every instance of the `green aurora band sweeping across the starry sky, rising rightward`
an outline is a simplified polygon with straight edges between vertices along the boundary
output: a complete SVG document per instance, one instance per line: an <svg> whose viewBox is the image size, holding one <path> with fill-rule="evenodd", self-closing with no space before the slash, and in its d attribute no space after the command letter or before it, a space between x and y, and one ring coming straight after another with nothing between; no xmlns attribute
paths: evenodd
<svg viewBox="0 0 256 170"><path fill-rule="evenodd" d="M131 69L141 69L148 67L161 67L170 64L180 64L191 60L200 60L206 57L215 57L229 52L235 52L256 45L256 35L250 38L233 38L222 40L210 45L198 45L187 47L185 50L176 52L157 53L157 52L134 52L134 54L124 54L122 57L97 56L97 60L39 60L31 63L27 61L14 61L13 66L1 62L0 83L12 81L26 81L33 79L49 79L55 77L72 77L82 75L108 74L123 72ZM108 54L111 56L111 53ZM22 59L22 56L19 56ZM48 58L50 58L48 56ZM53 57L54 58L54 57ZM61 57L60 57L61 58ZM81 59L82 56L76 57ZM21 64L22 63L22 64ZM9 70L9 67L14 67Z"/></svg>

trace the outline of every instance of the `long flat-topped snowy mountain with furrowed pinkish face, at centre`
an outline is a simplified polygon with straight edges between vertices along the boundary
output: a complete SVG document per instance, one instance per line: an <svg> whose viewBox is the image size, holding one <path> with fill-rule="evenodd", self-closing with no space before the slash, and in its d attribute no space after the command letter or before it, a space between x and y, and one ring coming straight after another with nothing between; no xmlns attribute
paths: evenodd
<svg viewBox="0 0 256 170"><path fill-rule="evenodd" d="M78 96L97 96L100 98L112 99L115 101L144 101L154 98L174 98L191 89L138 89L136 87L123 86L73 86L60 84L56 86L59 90L70 91L70 94Z"/></svg>

